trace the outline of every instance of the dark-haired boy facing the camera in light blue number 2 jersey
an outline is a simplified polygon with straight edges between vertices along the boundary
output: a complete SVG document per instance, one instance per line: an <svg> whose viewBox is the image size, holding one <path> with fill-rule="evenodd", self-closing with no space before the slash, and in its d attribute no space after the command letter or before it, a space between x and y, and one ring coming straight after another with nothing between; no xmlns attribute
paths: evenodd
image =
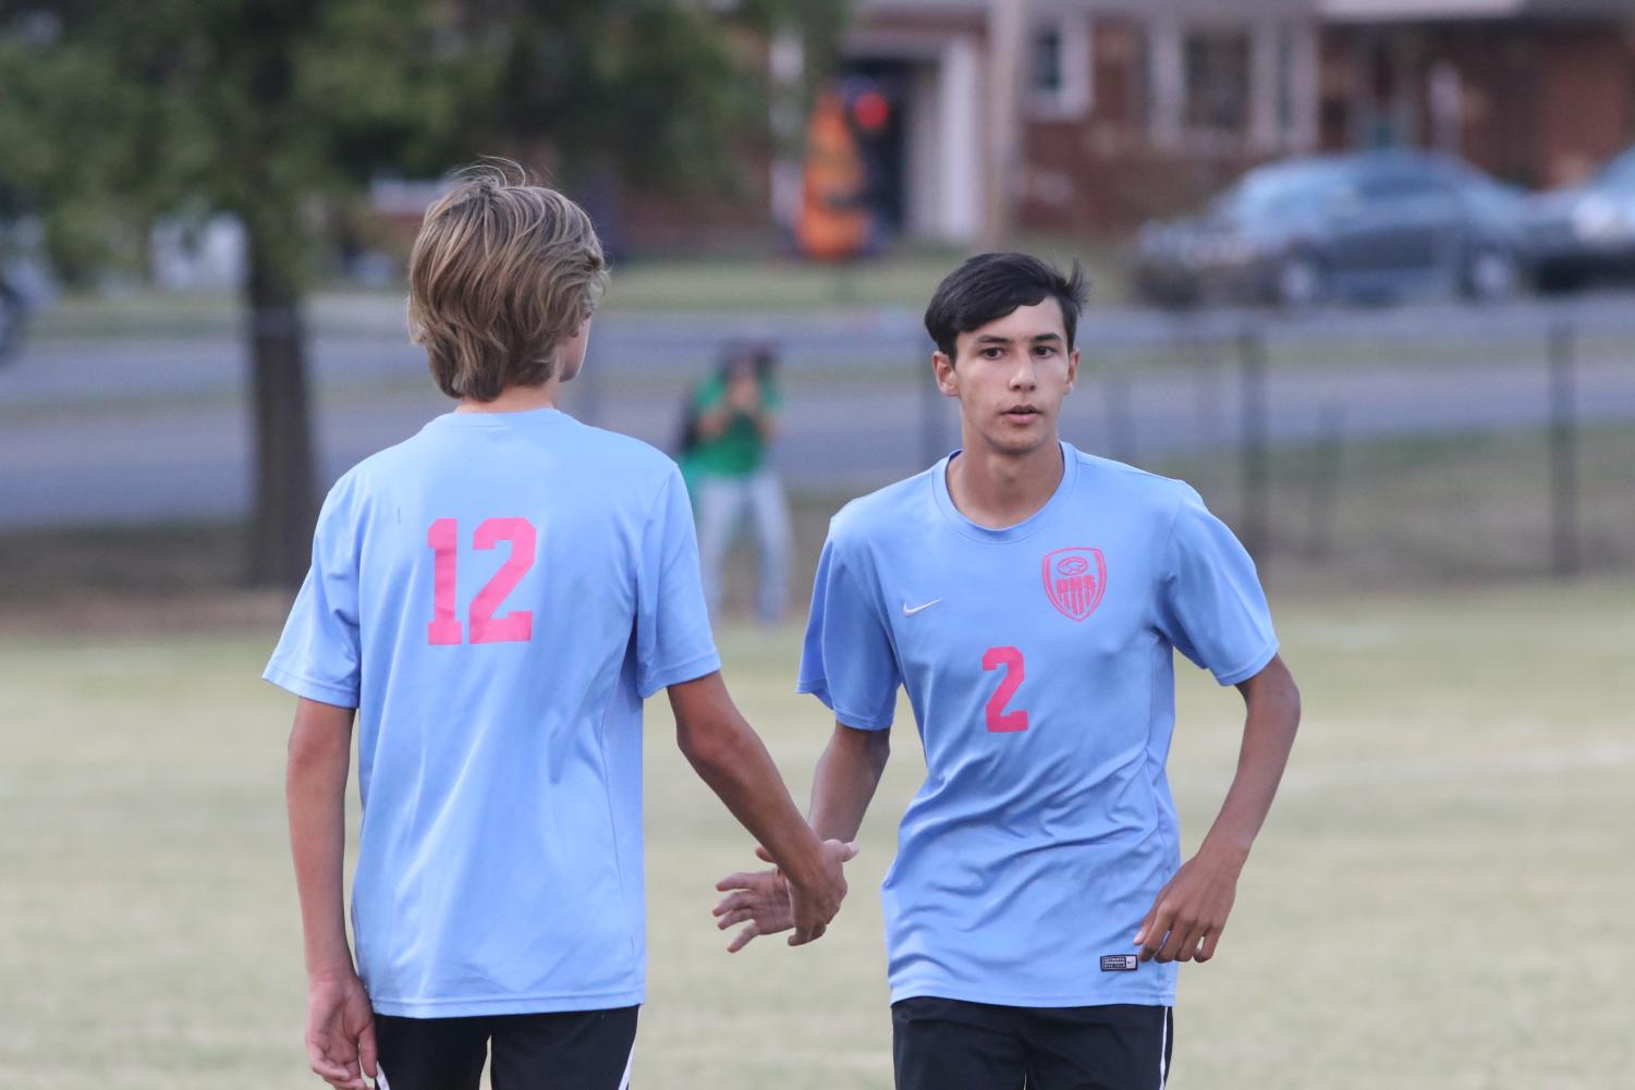
<svg viewBox="0 0 1635 1090"><path fill-rule="evenodd" d="M835 716L809 819L850 840L907 690L925 784L881 889L898 1090L1158 1090L1176 963L1208 961L1298 691L1244 549L1185 484L1058 438L1084 284L971 258L925 327L961 449L849 503L800 688ZM1238 776L1180 864L1172 650L1248 706ZM788 927L773 873L719 889L732 948Z"/></svg>

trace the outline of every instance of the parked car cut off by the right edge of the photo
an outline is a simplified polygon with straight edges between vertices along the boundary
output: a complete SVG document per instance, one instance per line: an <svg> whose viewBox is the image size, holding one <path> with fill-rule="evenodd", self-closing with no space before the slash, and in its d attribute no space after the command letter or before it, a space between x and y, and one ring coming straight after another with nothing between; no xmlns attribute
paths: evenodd
<svg viewBox="0 0 1635 1090"><path fill-rule="evenodd" d="M1584 185L1535 196L1527 234L1543 291L1635 275L1635 147Z"/></svg>

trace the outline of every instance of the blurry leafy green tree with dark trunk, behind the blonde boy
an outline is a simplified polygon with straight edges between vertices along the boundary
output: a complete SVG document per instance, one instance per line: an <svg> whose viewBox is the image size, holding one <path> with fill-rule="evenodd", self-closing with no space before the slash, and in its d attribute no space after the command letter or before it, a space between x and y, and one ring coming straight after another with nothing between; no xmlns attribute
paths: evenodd
<svg viewBox="0 0 1635 1090"><path fill-rule="evenodd" d="M839 0L752 0L731 16L682 0L11 0L0 3L0 190L41 212L70 275L121 252L141 260L160 216L242 221L250 577L294 585L316 515L304 301L322 212L383 173L435 176L495 152L548 159L567 178L719 176L755 101L732 25L832 25L840 11Z"/></svg>

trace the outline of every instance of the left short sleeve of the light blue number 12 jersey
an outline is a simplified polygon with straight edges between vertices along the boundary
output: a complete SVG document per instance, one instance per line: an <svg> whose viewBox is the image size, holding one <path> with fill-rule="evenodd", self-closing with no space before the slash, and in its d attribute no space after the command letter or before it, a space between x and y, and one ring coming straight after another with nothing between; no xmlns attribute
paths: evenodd
<svg viewBox="0 0 1635 1090"><path fill-rule="evenodd" d="M312 567L262 677L296 696L356 708L363 662L358 637L360 533L347 480L317 516Z"/></svg>

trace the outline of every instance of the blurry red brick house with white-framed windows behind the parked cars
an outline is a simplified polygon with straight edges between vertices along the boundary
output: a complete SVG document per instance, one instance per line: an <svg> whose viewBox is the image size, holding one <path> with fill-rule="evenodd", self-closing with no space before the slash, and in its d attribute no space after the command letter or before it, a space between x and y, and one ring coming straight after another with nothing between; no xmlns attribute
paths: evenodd
<svg viewBox="0 0 1635 1090"><path fill-rule="evenodd" d="M1015 216L1122 232L1290 154L1442 147L1527 185L1635 139L1628 0L1030 0ZM842 78L898 106L883 214L968 243L994 163L986 0L858 0ZM777 186L773 186L777 188Z"/></svg>

